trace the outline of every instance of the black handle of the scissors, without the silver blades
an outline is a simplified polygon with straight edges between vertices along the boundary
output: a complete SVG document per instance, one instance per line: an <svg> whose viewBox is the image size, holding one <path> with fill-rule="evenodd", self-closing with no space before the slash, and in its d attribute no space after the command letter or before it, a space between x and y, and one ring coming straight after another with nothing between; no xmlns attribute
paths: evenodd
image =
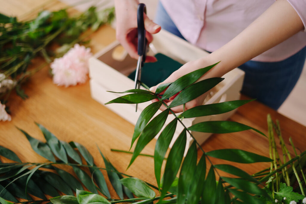
<svg viewBox="0 0 306 204"><path fill-rule="evenodd" d="M146 46L146 30L144 29L144 13L146 13L146 5L138 4L137 8L137 30L138 30L138 55L144 56Z"/></svg>

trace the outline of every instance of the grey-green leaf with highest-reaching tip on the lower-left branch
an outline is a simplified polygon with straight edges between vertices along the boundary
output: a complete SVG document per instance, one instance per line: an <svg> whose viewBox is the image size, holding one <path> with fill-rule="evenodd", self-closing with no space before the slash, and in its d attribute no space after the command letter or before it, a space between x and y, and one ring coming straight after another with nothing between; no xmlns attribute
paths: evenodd
<svg viewBox="0 0 306 204"><path fill-rule="evenodd" d="M50 149L52 150L53 154L57 156L60 160L68 163L67 155L64 146L60 141L53 135L49 130L47 130L43 125L35 123L41 132L43 132L43 136L45 136L47 140L47 144L49 145Z"/></svg>

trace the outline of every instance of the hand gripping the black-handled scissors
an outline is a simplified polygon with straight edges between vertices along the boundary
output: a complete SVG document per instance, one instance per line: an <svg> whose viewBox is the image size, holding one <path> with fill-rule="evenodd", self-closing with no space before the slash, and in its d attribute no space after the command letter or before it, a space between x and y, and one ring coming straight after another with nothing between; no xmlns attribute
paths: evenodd
<svg viewBox="0 0 306 204"><path fill-rule="evenodd" d="M115 0L116 11L116 38L121 45L127 50L129 55L138 59L137 44L138 44L138 32L137 32L137 6L139 2L137 0ZM148 43L153 40L151 34L158 33L161 27L150 20L146 14L144 14L144 28L146 32L146 38ZM155 62L156 58L153 56L147 56L146 62Z"/></svg>

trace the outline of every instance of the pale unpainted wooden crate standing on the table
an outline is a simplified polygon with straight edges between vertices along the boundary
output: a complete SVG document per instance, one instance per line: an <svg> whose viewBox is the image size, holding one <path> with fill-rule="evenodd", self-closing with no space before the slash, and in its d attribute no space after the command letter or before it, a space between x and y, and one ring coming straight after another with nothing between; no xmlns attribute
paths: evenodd
<svg viewBox="0 0 306 204"><path fill-rule="evenodd" d="M126 91L134 87L134 81L129 79L127 76L136 69L137 60L132 59L129 57L129 55L123 55L124 57L117 57L114 59L114 50L119 45L119 42L116 41L95 54L89 60L91 96L101 104L123 95L106 91L119 92ZM150 52L148 53L149 55L153 55L156 52L162 53L182 64L209 54L208 52L203 51L196 46L191 45L187 41L164 30L161 30L159 33L154 35L152 45L153 46L150 46ZM225 79L211 90L211 94L205 99L204 104L232 101L240 98L240 90L243 83L244 72L236 68L228 72L223 77ZM150 103L151 102L138 104L137 112L135 112L135 104L115 103L108 104L106 107L135 125L141 111ZM190 127L192 124L202 121L227 120L234 112L235 110L219 115L185 118L183 119L183 123L186 127ZM160 111L158 111L156 114L159 113ZM174 116L169 115L166 124L173 119ZM182 130L183 126L178 123L178 127L170 147L172 147L174 140ZM202 144L211 135L211 133L202 132L192 132L192 134L200 144ZM188 135L186 146L189 147L191 142L192 138Z"/></svg>

